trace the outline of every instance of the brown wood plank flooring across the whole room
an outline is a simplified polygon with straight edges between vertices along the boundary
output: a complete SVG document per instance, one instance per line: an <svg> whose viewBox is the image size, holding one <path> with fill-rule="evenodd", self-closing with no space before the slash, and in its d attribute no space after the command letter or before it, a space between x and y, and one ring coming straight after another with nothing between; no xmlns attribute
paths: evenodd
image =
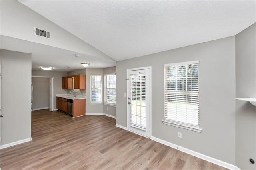
<svg viewBox="0 0 256 170"><path fill-rule="evenodd" d="M103 115L32 112L32 141L1 150L1 169L225 169L115 127Z"/></svg>

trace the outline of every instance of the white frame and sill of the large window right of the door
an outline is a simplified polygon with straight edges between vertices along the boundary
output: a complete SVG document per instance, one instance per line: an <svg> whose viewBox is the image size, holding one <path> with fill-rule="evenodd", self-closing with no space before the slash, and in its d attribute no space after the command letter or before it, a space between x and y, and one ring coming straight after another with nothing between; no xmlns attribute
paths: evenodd
<svg viewBox="0 0 256 170"><path fill-rule="evenodd" d="M164 67L170 67L170 66L174 66L174 65L177 65L177 66L178 65L190 65L190 64L196 64L196 63L198 63L198 65L199 65L199 61L188 61L188 62L181 62L181 63L164 64ZM166 96L165 96L165 93L166 93L165 88L166 87L165 86L166 86L166 75L165 75L165 68L164 68L164 103L166 102ZM192 124L190 125L190 124L184 123L182 121L165 119L165 116L166 116L165 114L166 113L165 113L165 104L164 104L164 120L162 120L162 123L164 123L166 125L171 125L171 126L175 126L175 127L192 130L195 132L202 132L202 128L200 128L199 120L198 120L198 125L192 125ZM186 114L187 114L187 112L186 112ZM199 113L199 67L198 67L198 117L200 117L200 113Z"/></svg>

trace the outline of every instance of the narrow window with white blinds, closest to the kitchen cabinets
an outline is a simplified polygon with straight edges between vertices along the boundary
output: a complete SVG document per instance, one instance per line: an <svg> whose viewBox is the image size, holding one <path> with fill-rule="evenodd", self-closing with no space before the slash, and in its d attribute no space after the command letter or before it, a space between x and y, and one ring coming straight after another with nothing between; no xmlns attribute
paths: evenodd
<svg viewBox="0 0 256 170"><path fill-rule="evenodd" d="M91 75L91 102L101 103L102 100L101 75Z"/></svg>

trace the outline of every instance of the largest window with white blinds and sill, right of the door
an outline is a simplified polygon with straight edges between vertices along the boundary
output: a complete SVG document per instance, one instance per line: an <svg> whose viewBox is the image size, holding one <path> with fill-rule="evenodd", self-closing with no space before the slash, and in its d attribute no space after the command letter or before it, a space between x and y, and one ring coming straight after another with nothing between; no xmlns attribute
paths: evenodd
<svg viewBox="0 0 256 170"><path fill-rule="evenodd" d="M164 120L168 125L199 128L199 61L164 65Z"/></svg>

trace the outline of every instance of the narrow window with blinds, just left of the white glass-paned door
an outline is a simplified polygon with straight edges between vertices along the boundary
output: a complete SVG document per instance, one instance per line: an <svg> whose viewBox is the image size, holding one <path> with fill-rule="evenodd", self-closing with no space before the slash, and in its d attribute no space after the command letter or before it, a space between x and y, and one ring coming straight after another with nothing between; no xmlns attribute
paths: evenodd
<svg viewBox="0 0 256 170"><path fill-rule="evenodd" d="M116 75L104 75L105 103L116 104Z"/></svg>

